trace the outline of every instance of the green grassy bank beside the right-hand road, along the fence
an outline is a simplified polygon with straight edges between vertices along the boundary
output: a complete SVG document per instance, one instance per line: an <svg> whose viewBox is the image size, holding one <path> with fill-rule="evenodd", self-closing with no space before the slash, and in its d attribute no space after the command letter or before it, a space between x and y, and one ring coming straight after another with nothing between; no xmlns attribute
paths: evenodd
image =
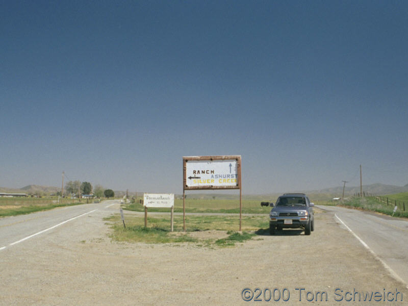
<svg viewBox="0 0 408 306"><path fill-rule="evenodd" d="M381 200L378 197L352 197L350 199L339 202L339 204L346 207L355 207L392 216L395 204L389 199L389 203L387 205L387 201L384 201L384 198L386 197L381 196ZM408 203L405 202L405 211L403 210L403 206L397 206L398 209L394 213L394 217L408 218Z"/></svg>

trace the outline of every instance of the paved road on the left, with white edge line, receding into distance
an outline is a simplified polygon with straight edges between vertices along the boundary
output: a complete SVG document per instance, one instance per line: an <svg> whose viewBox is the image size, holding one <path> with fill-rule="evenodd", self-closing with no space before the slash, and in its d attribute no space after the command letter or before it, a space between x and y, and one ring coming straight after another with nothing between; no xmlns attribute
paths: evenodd
<svg viewBox="0 0 408 306"><path fill-rule="evenodd" d="M105 211L112 213L111 207L120 200L58 208L28 215L0 218L0 251L23 243L36 236L43 235L55 228L85 216Z"/></svg>

